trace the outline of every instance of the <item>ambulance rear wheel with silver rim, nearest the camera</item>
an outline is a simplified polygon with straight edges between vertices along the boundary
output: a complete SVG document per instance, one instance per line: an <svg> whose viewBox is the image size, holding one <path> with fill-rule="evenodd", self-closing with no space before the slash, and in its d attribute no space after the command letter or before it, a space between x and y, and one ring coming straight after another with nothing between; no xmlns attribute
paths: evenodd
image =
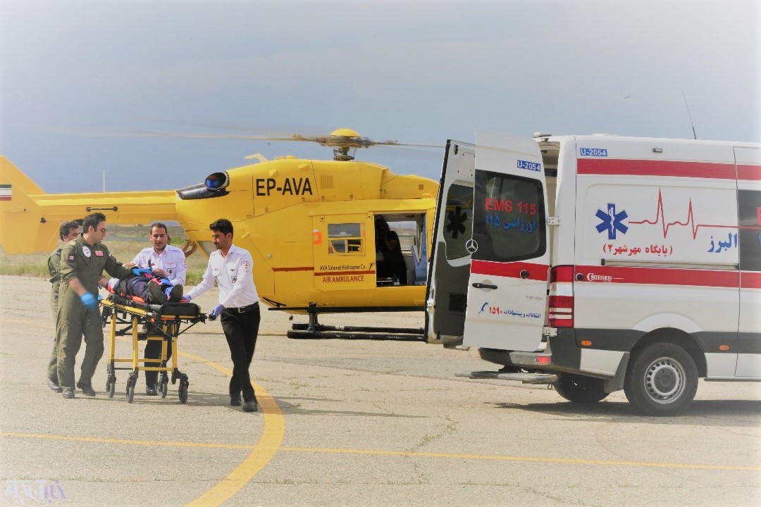
<svg viewBox="0 0 761 507"><path fill-rule="evenodd" d="M643 414L677 414L695 398L698 369L692 356L676 344L652 344L629 362L624 392Z"/></svg>

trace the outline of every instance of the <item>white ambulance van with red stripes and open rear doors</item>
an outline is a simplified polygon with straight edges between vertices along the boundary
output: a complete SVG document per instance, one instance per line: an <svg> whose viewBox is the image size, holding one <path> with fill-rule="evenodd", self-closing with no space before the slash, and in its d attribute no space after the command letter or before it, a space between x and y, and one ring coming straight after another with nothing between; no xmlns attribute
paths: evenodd
<svg viewBox="0 0 761 507"><path fill-rule="evenodd" d="M563 398L683 409L761 380L761 145L612 135L448 141L428 341Z"/></svg>

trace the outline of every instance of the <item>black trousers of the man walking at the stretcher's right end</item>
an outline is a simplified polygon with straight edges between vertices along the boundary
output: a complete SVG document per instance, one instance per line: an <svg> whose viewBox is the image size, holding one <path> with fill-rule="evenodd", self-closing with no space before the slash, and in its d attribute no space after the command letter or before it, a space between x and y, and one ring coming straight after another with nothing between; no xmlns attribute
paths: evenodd
<svg viewBox="0 0 761 507"><path fill-rule="evenodd" d="M243 391L244 401L255 399L248 367L256 347L259 334L259 303L245 308L226 308L221 314L222 331L228 339L230 356L233 360L233 376L230 379L230 395L237 396Z"/></svg>

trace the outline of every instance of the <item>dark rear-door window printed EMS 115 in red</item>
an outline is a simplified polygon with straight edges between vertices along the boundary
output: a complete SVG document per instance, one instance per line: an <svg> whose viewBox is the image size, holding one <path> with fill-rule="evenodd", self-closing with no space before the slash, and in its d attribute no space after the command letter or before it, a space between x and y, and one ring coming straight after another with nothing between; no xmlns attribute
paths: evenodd
<svg viewBox="0 0 761 507"><path fill-rule="evenodd" d="M536 179L476 171L473 239L480 261L520 261L546 251L542 183Z"/></svg>

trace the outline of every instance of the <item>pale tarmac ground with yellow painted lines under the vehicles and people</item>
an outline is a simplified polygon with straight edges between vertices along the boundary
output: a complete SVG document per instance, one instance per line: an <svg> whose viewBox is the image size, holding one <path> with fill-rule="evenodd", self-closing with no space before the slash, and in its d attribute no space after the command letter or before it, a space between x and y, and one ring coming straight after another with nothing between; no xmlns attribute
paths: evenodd
<svg viewBox="0 0 761 507"><path fill-rule="evenodd" d="M761 384L700 382L686 414L642 417L622 392L584 407L455 377L495 369L474 350L288 339L306 318L263 311L259 412L229 406L218 321L180 336L186 404L177 385L146 396L142 374L128 404L126 372L108 398L108 328L97 396L65 400L45 382L50 285L0 287L0 505L761 505ZM418 327L422 315L320 322ZM116 343L131 357L131 340Z"/></svg>

